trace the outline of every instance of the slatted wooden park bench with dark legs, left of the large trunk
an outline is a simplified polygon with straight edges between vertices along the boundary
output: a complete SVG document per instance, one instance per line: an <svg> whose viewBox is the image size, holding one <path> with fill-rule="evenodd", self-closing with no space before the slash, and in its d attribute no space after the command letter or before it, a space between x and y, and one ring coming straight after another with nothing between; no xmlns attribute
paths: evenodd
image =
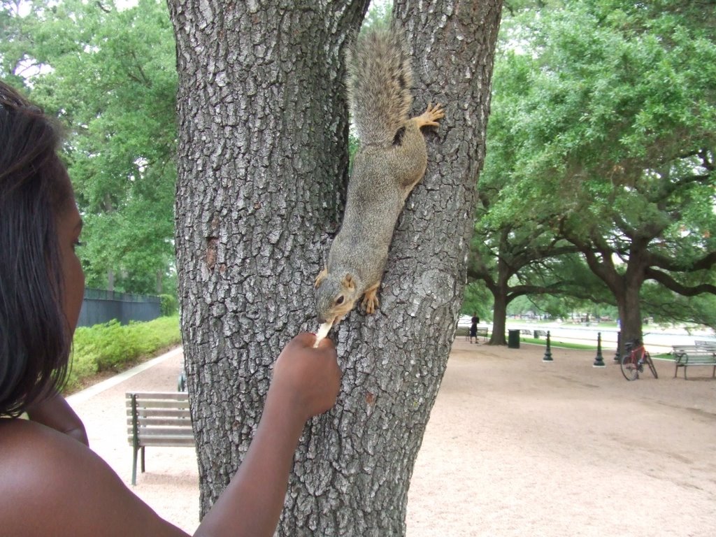
<svg viewBox="0 0 716 537"><path fill-rule="evenodd" d="M187 392L127 392L127 432L134 452L132 485L137 484L137 455L147 445L193 446Z"/></svg>

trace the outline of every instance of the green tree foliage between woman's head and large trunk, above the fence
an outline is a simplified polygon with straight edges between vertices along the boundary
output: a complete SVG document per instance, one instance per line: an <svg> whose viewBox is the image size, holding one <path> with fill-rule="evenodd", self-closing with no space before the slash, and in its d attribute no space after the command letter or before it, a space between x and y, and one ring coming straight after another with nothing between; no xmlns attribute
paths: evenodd
<svg viewBox="0 0 716 537"><path fill-rule="evenodd" d="M67 127L87 284L154 293L173 266L175 46L161 0L0 4L0 76ZM29 11L29 12L25 12Z"/></svg>

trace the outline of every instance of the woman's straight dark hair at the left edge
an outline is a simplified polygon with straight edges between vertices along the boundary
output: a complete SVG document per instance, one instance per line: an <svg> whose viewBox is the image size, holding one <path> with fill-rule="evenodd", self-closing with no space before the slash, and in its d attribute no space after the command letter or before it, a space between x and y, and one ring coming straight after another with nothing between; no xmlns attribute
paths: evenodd
<svg viewBox="0 0 716 537"><path fill-rule="evenodd" d="M0 81L0 415L17 416L67 374L56 219L72 194L58 129Z"/></svg>

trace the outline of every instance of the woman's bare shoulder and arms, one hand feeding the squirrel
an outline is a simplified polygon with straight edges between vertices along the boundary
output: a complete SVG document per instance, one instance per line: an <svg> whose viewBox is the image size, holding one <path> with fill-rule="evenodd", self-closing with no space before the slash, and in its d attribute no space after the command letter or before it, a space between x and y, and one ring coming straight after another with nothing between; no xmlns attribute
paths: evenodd
<svg viewBox="0 0 716 537"><path fill-rule="evenodd" d="M313 349L315 340L299 334L281 352L246 458L195 536L274 535L306 420L329 410L339 392L334 344L324 339ZM52 428L0 420L3 537L187 537L133 494L105 461L54 430L67 429L60 424L76 418L72 412L67 420L69 405L63 410L62 397L47 403L33 414Z"/></svg>

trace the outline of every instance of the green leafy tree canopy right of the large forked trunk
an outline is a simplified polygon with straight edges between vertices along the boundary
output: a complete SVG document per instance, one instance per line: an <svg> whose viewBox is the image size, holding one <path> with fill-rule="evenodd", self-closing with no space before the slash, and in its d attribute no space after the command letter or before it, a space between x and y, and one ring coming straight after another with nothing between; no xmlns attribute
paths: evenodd
<svg viewBox="0 0 716 537"><path fill-rule="evenodd" d="M620 303L620 286L657 279L664 296L645 300L649 311L695 314L669 306L715 289L716 4L516 1L508 12L478 185L479 248L487 231L514 245L528 236L521 228L545 226L545 238L596 252L591 270L611 279L611 299L596 286L581 298ZM511 266L503 251L495 264ZM562 279L581 279L576 266L563 269ZM577 287L567 292L580 296Z"/></svg>

